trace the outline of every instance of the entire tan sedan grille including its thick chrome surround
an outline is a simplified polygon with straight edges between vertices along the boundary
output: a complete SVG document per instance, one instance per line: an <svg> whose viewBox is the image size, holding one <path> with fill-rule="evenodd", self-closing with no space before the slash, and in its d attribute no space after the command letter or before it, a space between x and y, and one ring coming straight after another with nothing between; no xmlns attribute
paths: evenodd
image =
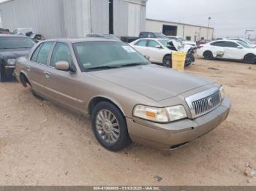
<svg viewBox="0 0 256 191"><path fill-rule="evenodd" d="M221 104L219 87L212 87L209 90L197 93L186 98L191 117L195 119L203 114L211 112Z"/></svg>

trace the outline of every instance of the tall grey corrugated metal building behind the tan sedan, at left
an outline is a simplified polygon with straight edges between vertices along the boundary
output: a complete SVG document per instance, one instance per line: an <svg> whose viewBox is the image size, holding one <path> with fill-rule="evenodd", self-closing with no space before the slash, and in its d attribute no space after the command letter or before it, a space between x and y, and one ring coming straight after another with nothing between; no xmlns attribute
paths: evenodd
<svg viewBox="0 0 256 191"><path fill-rule="evenodd" d="M147 0L10 0L0 4L3 28L34 28L46 38L86 34L138 36Z"/></svg>

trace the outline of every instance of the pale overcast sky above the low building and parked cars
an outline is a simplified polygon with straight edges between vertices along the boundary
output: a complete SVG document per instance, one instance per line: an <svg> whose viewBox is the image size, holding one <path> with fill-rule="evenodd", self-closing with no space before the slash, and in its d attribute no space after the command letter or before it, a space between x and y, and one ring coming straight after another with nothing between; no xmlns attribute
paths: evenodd
<svg viewBox="0 0 256 191"><path fill-rule="evenodd" d="M256 31L256 0L148 0L147 18L214 27L215 37ZM253 35L255 36L255 34Z"/></svg>

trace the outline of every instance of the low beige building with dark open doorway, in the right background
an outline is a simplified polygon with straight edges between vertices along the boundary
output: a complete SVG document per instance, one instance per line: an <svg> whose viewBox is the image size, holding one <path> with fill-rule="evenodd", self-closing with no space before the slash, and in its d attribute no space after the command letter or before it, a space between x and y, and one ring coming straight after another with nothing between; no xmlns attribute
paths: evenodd
<svg viewBox="0 0 256 191"><path fill-rule="evenodd" d="M161 32L170 36L182 36L194 42L214 37L214 28L211 27L153 19L146 19L146 31Z"/></svg>

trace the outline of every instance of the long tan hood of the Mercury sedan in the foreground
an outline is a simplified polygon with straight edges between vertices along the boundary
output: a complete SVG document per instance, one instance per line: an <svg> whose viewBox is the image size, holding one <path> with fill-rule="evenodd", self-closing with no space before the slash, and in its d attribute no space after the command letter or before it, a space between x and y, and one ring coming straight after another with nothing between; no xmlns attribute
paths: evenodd
<svg viewBox="0 0 256 191"><path fill-rule="evenodd" d="M210 79L153 64L93 71L91 74L154 101L162 101L197 87L214 83Z"/></svg>

